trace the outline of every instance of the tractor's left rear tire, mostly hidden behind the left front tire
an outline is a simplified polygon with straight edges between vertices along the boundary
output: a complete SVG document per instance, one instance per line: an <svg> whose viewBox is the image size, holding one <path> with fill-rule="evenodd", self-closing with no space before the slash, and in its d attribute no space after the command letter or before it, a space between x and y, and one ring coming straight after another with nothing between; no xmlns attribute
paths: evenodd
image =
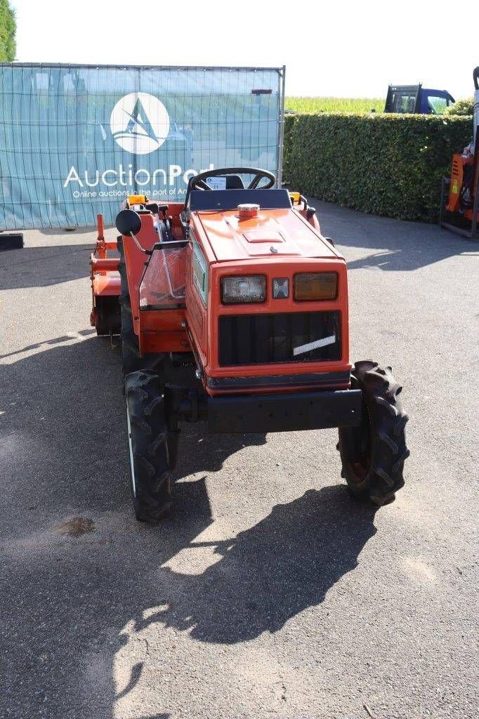
<svg viewBox="0 0 479 719"><path fill-rule="evenodd" d="M138 372L140 370L156 370L161 372L165 354L147 354L145 357L140 357L138 337L134 331L132 303L129 299L127 267L124 262L123 241L120 238L117 242L120 255L118 271L122 282L119 303L121 307L120 344L122 348L123 374L126 376L129 375L130 372Z"/></svg>

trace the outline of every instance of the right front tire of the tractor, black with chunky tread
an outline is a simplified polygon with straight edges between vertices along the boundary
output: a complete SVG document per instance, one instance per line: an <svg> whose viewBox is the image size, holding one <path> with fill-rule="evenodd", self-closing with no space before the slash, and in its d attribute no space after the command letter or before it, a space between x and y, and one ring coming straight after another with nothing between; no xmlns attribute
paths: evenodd
<svg viewBox="0 0 479 719"><path fill-rule="evenodd" d="M409 457L404 432L409 418L398 399L402 387L391 367L383 369L370 360L356 363L351 380L362 391L362 416L360 426L339 428L341 475L352 495L382 506L393 502L403 487Z"/></svg>

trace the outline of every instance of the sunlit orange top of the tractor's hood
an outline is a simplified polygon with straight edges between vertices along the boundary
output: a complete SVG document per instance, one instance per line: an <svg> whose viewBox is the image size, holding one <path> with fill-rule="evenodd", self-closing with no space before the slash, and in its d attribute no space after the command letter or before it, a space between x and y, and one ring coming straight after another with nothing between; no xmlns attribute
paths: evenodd
<svg viewBox="0 0 479 719"><path fill-rule="evenodd" d="M239 219L237 210L198 213L218 262L257 257L318 257L341 255L308 221L291 209L260 210L250 219Z"/></svg>

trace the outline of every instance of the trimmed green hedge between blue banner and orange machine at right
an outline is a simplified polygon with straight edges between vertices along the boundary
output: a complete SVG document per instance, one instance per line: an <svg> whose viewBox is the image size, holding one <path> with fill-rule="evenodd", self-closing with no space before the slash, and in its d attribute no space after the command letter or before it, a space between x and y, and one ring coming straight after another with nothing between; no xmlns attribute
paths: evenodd
<svg viewBox="0 0 479 719"><path fill-rule="evenodd" d="M287 116L283 178L309 197L434 222L441 178L472 131L470 117Z"/></svg>

